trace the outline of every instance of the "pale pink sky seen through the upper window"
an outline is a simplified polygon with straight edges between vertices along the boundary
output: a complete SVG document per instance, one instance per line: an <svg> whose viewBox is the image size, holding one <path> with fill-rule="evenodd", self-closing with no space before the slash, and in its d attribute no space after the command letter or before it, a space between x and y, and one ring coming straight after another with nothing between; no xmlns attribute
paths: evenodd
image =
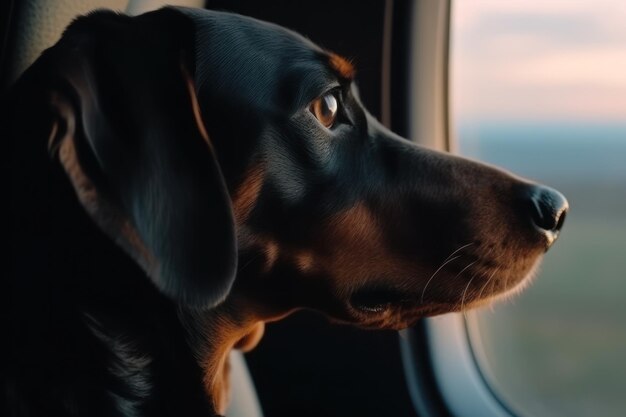
<svg viewBox="0 0 626 417"><path fill-rule="evenodd" d="M626 123L626 1L455 0L453 117Z"/></svg>

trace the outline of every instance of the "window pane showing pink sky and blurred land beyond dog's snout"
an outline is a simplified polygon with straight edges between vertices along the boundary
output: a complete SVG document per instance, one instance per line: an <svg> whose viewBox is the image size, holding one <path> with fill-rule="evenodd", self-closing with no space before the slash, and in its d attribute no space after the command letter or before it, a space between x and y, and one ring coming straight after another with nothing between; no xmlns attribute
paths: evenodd
<svg viewBox="0 0 626 417"><path fill-rule="evenodd" d="M467 313L486 381L522 416L626 410L626 3L453 4L460 153L563 192L530 288Z"/></svg>

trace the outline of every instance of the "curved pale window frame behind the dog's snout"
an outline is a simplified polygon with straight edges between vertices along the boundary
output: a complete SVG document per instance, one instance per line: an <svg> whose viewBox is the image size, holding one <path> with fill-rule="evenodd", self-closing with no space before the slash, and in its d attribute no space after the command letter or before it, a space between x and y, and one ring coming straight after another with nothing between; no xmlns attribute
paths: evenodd
<svg viewBox="0 0 626 417"><path fill-rule="evenodd" d="M420 145L453 151L449 108L452 0L411 2L409 6L388 2L393 18L385 45L391 69L383 70L383 77L389 77L383 81L389 87L383 92L388 94L383 96L383 109L389 109L383 110L383 123ZM405 42L397 42L398 35L404 35ZM402 55L394 50L397 45L404 48L403 60L397 58ZM406 72L399 74L399 67ZM405 80L404 88L394 88L398 75L397 84ZM404 105L403 112L394 109L397 103ZM385 120L385 114L393 114L393 120ZM517 415L481 371L462 314L423 319L399 337L409 392L420 416Z"/></svg>

